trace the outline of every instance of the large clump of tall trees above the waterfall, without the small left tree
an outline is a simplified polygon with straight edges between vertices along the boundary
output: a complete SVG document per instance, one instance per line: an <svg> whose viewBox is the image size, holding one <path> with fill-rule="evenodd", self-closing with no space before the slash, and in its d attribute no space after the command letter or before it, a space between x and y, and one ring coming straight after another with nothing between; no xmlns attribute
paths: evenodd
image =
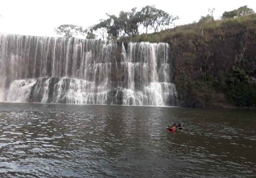
<svg viewBox="0 0 256 178"><path fill-rule="evenodd" d="M155 6L146 6L137 12L137 8L132 8L131 12L121 11L119 16L109 15L106 20L101 20L100 23L93 26L93 30L106 28L110 37L131 36L139 34L139 26L143 25L148 28L158 31L159 27L168 26L174 20L179 19L178 16L173 17L163 10L155 8ZM113 27L114 26L114 27Z"/></svg>

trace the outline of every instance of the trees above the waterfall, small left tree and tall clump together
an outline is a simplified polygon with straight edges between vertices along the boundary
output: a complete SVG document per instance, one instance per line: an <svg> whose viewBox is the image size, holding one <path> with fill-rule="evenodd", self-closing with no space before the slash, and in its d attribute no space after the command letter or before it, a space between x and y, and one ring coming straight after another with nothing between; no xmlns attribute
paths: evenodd
<svg viewBox="0 0 256 178"><path fill-rule="evenodd" d="M67 38L85 34L87 34L87 38L95 38L93 31L97 31L103 39L106 34L110 39L116 39L122 36L139 35L140 25L146 28L146 33L148 29L153 29L156 32L160 27L168 26L179 19L178 16L169 15L167 12L155 8L155 6L146 6L141 11L132 8L128 12L121 11L118 16L106 15L107 19L101 19L100 23L94 24L85 30L81 26L65 24L57 27L55 31Z"/></svg>

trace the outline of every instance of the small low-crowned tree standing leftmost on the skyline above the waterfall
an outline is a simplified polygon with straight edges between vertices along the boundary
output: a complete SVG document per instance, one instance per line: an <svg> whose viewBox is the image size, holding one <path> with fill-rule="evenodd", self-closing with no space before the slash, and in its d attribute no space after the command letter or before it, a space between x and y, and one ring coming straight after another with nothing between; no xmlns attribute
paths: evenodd
<svg viewBox="0 0 256 178"><path fill-rule="evenodd" d="M55 28L54 31L66 38L72 38L76 35L85 35L87 33L87 30L84 30L83 27L72 24L60 25Z"/></svg>

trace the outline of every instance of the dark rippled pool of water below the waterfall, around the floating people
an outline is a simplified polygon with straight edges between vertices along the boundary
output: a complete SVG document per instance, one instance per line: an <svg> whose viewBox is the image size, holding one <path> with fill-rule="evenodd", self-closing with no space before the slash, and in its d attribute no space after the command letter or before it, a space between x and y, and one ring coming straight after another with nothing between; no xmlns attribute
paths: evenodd
<svg viewBox="0 0 256 178"><path fill-rule="evenodd" d="M0 177L255 177L255 148L255 110L0 103Z"/></svg>

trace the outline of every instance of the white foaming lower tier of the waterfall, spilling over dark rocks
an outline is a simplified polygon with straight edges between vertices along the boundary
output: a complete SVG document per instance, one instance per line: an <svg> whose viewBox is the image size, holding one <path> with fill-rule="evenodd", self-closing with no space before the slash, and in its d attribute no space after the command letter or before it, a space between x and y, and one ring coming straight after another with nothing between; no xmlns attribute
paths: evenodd
<svg viewBox="0 0 256 178"><path fill-rule="evenodd" d="M6 92L7 102L29 102L30 96L37 102L47 102L49 82L51 78L15 80ZM34 85L34 87L33 87ZM106 82L107 85L107 82ZM33 92L32 91L33 88ZM107 86L96 86L95 82L74 78L62 78L54 85L53 103L69 104L107 104ZM119 87L116 92L122 92L123 105L165 106L165 103L175 101L177 91L172 83L151 82L144 86L143 91L134 91ZM111 104L117 102L117 93ZM32 94L32 95L31 95ZM169 101L168 101L169 100ZM174 103L172 103L174 104Z"/></svg>

